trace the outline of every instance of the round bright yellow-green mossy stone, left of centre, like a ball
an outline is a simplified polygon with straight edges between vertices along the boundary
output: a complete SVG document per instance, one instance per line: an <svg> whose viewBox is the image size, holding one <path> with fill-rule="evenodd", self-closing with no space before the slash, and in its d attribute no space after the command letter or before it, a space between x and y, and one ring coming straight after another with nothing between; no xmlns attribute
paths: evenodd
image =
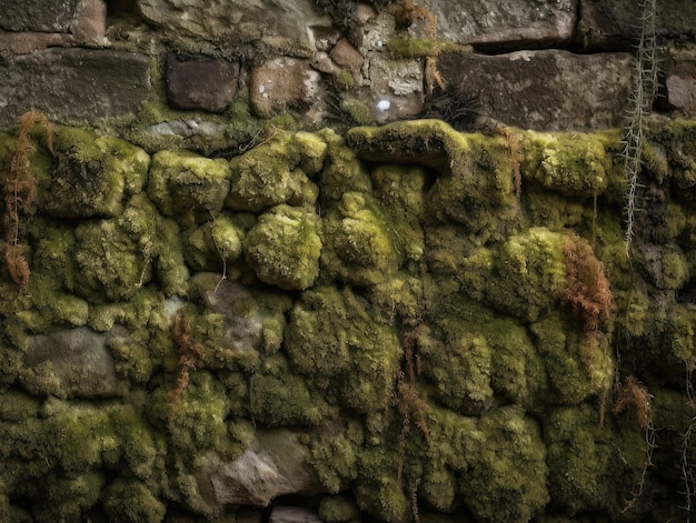
<svg viewBox="0 0 696 523"><path fill-rule="evenodd" d="M314 212L278 205L259 218L245 238L246 260L259 280L304 290L319 275L321 240Z"/></svg>

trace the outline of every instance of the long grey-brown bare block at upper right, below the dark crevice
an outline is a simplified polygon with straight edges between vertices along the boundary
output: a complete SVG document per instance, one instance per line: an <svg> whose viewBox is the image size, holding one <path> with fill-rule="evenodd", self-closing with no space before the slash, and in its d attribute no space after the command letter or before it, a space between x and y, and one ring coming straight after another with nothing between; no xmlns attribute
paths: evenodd
<svg viewBox="0 0 696 523"><path fill-rule="evenodd" d="M444 54L438 67L457 97L477 100L479 114L524 129L557 131L620 127L633 60L627 53L518 51Z"/></svg>

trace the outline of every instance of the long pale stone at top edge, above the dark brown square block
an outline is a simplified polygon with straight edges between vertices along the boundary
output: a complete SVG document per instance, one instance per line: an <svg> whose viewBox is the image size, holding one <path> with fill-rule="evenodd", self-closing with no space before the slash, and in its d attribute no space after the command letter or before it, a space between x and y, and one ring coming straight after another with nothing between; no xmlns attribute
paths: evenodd
<svg viewBox="0 0 696 523"><path fill-rule="evenodd" d="M318 33L336 31L312 0L138 0L150 23L210 41L259 42L271 49L309 57ZM186 17L181 13L186 12Z"/></svg>

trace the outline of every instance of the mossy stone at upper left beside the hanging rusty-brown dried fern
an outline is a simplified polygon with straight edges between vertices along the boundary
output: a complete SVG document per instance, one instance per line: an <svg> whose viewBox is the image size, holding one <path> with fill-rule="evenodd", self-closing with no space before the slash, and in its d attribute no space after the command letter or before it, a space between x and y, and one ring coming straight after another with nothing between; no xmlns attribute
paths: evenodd
<svg viewBox="0 0 696 523"><path fill-rule="evenodd" d="M146 183L150 158L123 140L59 128L53 149L50 173L38 177L38 207L49 215L116 217Z"/></svg>

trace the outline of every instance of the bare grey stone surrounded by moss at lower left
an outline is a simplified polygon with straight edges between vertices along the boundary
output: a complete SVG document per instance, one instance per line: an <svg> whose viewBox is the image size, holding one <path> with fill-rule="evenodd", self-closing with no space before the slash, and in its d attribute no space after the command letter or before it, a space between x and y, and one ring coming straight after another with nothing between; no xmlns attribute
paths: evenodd
<svg viewBox="0 0 696 523"><path fill-rule="evenodd" d="M128 331L115 328L109 333L97 333L80 326L31 336L23 358L30 376L20 381L30 392L63 398L123 394L128 382L117 374L107 348L113 336L126 338ZM34 390L37 386L43 390Z"/></svg>

